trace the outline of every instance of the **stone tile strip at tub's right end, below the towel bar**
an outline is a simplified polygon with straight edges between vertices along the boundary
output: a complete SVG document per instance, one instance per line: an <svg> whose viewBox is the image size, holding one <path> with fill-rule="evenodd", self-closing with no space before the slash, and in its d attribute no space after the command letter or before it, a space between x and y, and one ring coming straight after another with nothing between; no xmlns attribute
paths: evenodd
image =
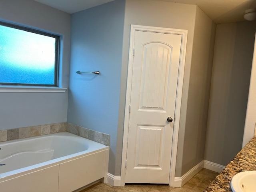
<svg viewBox="0 0 256 192"><path fill-rule="evenodd" d="M67 123L67 132L109 146L110 135Z"/></svg>

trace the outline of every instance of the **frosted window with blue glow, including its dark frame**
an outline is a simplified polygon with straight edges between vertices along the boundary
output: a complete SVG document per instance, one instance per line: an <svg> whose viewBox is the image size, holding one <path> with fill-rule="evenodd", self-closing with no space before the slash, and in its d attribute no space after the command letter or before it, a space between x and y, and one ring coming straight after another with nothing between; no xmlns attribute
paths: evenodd
<svg viewBox="0 0 256 192"><path fill-rule="evenodd" d="M58 85L60 37L0 22L0 84Z"/></svg>

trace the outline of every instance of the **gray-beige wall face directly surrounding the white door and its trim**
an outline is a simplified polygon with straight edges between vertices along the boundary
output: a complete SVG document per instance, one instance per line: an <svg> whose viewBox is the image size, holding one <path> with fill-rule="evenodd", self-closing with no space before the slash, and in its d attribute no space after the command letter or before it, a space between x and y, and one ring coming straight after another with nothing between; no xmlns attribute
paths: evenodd
<svg viewBox="0 0 256 192"><path fill-rule="evenodd" d="M192 58L195 16L196 5L176 4L171 2L153 0L126 0L118 138L122 138L124 128L124 108L126 98L126 81L130 46L130 25L135 24L188 30L183 85L184 89L182 92L182 112L180 116L180 132L178 140L178 156L181 156L181 158L177 157L175 174L176 176L180 176L182 167L182 145L184 142L183 137L185 132L186 106L188 98L188 86ZM120 160L116 161L116 175L120 175L122 157L122 140L118 140L118 142L119 143L117 144L117 146L119 147L119 154L117 156L120 158Z"/></svg>

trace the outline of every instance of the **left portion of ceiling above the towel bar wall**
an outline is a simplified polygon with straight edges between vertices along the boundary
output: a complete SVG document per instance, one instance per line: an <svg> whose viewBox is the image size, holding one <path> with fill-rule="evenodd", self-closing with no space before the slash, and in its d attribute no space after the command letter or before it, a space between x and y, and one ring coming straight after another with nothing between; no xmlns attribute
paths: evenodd
<svg viewBox="0 0 256 192"><path fill-rule="evenodd" d="M113 0L35 0L67 13L75 13Z"/></svg>

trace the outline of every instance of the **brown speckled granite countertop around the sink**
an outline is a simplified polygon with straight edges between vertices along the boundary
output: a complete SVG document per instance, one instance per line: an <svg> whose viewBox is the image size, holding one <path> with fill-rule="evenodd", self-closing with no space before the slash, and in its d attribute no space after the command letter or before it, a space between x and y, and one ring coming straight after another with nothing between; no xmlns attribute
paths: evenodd
<svg viewBox="0 0 256 192"><path fill-rule="evenodd" d="M243 171L256 170L256 136L234 157L204 192L231 192L232 177Z"/></svg>

